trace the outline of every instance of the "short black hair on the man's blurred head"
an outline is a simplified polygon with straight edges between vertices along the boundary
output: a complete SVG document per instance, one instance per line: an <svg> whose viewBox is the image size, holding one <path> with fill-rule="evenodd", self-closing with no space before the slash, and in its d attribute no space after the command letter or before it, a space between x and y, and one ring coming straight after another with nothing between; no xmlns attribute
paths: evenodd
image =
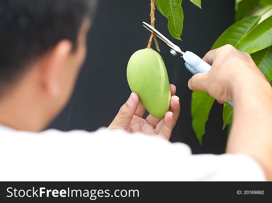
<svg viewBox="0 0 272 203"><path fill-rule="evenodd" d="M0 93L60 40L77 46L88 0L0 1Z"/></svg>

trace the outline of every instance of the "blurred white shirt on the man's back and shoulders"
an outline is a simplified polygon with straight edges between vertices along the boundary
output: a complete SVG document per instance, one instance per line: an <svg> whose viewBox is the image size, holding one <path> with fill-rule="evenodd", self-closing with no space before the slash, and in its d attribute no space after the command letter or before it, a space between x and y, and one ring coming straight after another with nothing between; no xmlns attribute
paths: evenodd
<svg viewBox="0 0 272 203"><path fill-rule="evenodd" d="M0 126L0 181L264 181L243 154L192 155L155 136L99 129L41 133Z"/></svg>

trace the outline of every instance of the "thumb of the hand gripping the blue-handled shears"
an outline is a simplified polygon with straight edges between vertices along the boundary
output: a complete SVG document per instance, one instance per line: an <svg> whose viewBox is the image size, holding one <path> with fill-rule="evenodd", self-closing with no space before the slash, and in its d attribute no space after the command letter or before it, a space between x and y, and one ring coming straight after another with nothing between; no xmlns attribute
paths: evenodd
<svg viewBox="0 0 272 203"><path fill-rule="evenodd" d="M198 73L193 75L191 79L188 81L188 87L193 91L206 91L207 89L207 76L208 72Z"/></svg>

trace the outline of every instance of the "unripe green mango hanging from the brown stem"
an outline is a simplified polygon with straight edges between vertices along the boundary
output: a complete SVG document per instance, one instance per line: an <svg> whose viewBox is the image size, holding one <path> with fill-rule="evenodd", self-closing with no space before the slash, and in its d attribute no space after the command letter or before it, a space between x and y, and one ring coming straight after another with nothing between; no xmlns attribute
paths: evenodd
<svg viewBox="0 0 272 203"><path fill-rule="evenodd" d="M127 80L147 111L163 118L170 107L170 85L162 57L153 49L136 51L128 62Z"/></svg>

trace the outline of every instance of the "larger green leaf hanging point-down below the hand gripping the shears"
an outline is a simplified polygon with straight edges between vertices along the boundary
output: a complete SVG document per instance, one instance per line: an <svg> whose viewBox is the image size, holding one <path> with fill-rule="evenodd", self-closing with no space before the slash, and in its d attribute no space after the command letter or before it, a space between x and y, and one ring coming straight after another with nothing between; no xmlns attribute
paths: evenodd
<svg viewBox="0 0 272 203"><path fill-rule="evenodd" d="M214 102L215 99L206 92L193 91L192 93L192 126L200 144L202 144L202 136L205 134L205 125Z"/></svg>

